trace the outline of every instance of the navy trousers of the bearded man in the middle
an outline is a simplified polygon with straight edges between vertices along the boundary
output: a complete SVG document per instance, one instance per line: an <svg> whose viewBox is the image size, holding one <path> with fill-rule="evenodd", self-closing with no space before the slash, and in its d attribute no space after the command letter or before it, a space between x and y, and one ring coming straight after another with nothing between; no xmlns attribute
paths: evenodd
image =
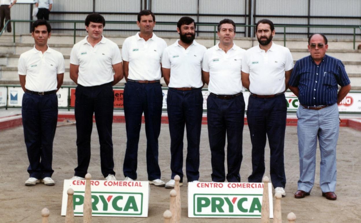
<svg viewBox="0 0 361 223"><path fill-rule="evenodd" d="M199 143L203 116L201 88L181 91L169 88L167 112L170 133L171 179L175 175L183 182L183 137L187 128L186 175L188 182L199 179Z"/></svg>

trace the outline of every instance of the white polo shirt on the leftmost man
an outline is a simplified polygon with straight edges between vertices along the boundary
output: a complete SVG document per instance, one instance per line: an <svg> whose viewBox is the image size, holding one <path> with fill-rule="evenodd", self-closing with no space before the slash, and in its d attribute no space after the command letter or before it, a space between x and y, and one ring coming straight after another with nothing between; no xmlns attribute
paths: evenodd
<svg viewBox="0 0 361 223"><path fill-rule="evenodd" d="M26 75L25 88L30 91L57 90L57 74L65 72L63 55L48 46L42 53L32 48L20 55L18 74Z"/></svg>

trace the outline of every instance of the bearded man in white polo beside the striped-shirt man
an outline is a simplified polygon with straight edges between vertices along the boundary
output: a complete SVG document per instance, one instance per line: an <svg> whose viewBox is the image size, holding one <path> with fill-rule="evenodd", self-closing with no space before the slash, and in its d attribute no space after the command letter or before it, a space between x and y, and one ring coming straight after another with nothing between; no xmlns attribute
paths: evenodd
<svg viewBox="0 0 361 223"><path fill-rule="evenodd" d="M276 193L286 196L283 148L287 104L284 91L292 73L293 59L288 48L272 42L273 22L256 25L258 46L248 49L242 60L242 83L251 95L247 121L252 142L252 174L248 182L261 182L265 173L266 135L270 146L270 176Z"/></svg>

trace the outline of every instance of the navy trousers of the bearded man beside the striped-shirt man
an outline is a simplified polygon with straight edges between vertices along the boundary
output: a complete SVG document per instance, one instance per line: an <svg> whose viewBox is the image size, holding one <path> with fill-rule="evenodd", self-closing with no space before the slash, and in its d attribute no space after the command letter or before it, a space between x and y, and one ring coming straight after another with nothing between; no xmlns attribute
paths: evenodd
<svg viewBox="0 0 361 223"><path fill-rule="evenodd" d="M247 122L252 143L252 174L248 182L262 182L265 173L266 135L270 146L270 176L276 187L286 186L283 149L287 103L284 94L274 98L248 99Z"/></svg>

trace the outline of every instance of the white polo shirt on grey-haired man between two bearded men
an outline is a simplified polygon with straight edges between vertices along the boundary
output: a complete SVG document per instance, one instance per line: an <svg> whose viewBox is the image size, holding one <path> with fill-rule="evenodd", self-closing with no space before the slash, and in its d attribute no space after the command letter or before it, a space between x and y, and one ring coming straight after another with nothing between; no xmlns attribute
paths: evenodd
<svg viewBox="0 0 361 223"><path fill-rule="evenodd" d="M208 91L213 94L232 95L243 92L241 65L245 50L233 43L223 51L219 42L209 48L203 56L203 70L209 72Z"/></svg>

